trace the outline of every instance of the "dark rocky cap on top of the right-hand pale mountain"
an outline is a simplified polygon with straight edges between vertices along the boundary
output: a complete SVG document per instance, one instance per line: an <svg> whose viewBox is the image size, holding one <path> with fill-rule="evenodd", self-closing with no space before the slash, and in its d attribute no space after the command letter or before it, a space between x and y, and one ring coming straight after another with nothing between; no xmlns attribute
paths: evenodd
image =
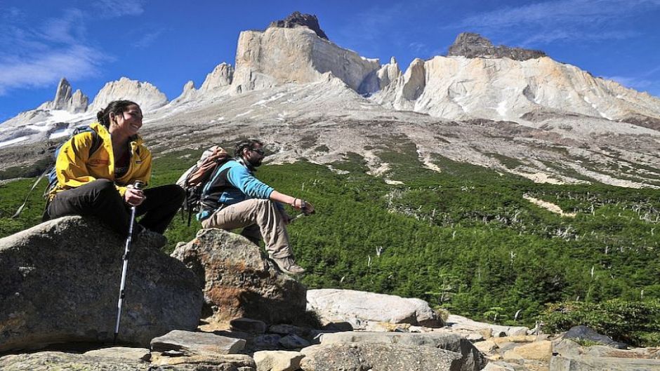
<svg viewBox="0 0 660 371"><path fill-rule="evenodd" d="M463 32L456 36L456 40L447 53L448 57L467 58L510 58L513 60L528 60L532 58L545 57L546 53L541 50L529 50L523 48L510 48L508 46L494 46L489 39L480 34Z"/></svg>

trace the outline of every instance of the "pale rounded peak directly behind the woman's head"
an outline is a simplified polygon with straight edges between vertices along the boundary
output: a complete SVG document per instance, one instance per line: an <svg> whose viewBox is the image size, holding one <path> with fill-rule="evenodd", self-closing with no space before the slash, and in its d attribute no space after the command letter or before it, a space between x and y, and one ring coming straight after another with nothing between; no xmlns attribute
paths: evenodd
<svg viewBox="0 0 660 371"><path fill-rule="evenodd" d="M89 106L91 112L98 112L113 100L132 100L140 105L143 112L162 107L167 97L158 88L146 81L140 82L126 77L106 83Z"/></svg>

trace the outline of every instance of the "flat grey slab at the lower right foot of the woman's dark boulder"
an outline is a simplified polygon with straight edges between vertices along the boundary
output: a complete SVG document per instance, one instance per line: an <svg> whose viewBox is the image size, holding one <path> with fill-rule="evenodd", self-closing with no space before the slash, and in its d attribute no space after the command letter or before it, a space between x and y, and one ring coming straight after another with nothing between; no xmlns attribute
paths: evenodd
<svg viewBox="0 0 660 371"><path fill-rule="evenodd" d="M153 351L183 351L187 356L206 353L238 353L245 346L244 339L214 335L209 332L173 330L151 341Z"/></svg>

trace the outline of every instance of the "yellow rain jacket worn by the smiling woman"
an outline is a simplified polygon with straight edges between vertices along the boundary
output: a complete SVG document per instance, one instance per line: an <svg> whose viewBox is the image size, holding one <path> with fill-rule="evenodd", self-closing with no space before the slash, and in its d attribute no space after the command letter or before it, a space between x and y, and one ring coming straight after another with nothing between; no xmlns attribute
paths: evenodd
<svg viewBox="0 0 660 371"><path fill-rule="evenodd" d="M90 156L89 149L93 142L91 132L75 135L62 144L55 161L58 185L48 195L49 199L52 200L60 191L80 187L97 179L112 180L122 197L128 184L133 184L136 180L148 184L151 177L151 152L143 144L142 138L136 135L128 144L131 151L128 171L123 177L115 179L110 133L100 123L93 123L90 127L98 133L102 141L101 146Z"/></svg>

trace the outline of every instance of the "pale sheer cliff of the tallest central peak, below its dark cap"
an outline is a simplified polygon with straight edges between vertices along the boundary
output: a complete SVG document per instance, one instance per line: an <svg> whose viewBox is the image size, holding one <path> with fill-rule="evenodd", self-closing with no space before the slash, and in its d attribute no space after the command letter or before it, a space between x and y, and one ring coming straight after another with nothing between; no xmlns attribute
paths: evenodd
<svg viewBox="0 0 660 371"><path fill-rule="evenodd" d="M322 81L331 72L358 93L381 68L378 60L362 58L352 50L321 39L307 27L269 27L244 31L236 50L232 87L242 93L283 83Z"/></svg>

